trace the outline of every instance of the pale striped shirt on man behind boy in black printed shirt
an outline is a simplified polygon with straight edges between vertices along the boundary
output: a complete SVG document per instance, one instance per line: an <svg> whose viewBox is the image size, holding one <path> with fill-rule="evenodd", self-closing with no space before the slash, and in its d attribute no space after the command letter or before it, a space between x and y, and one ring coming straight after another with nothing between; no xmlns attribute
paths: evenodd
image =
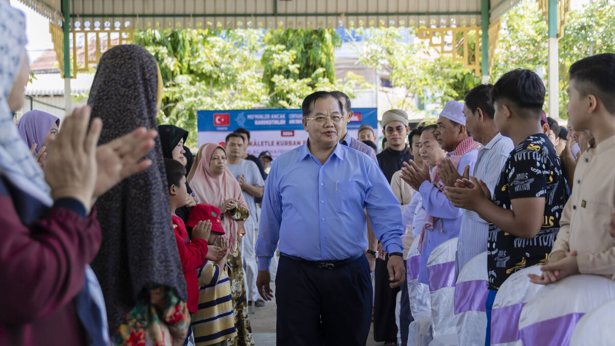
<svg viewBox="0 0 615 346"><path fill-rule="evenodd" d="M515 146L508 137L496 134L487 145L478 149L478 159L474 166L474 177L482 179L493 195L502 167ZM476 212L464 210L457 244L455 273L475 255L487 251L489 223L481 219Z"/></svg>

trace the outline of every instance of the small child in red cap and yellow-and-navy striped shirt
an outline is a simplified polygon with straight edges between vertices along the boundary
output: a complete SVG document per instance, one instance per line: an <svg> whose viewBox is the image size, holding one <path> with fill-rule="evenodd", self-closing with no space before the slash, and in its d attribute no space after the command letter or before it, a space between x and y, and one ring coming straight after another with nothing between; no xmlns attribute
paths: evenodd
<svg viewBox="0 0 615 346"><path fill-rule="evenodd" d="M210 204L197 204L188 215L187 225L196 225L207 220L211 225L208 243L215 244L228 252L224 229L220 223L220 209ZM231 300L227 253L220 260L207 260L200 268L199 311L192 316L194 342L197 346L226 346L226 340L237 335Z"/></svg>

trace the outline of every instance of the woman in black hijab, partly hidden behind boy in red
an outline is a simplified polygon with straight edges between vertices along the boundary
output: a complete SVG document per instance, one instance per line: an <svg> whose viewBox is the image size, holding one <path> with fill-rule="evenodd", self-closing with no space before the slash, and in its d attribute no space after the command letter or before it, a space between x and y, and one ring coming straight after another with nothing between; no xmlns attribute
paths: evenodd
<svg viewBox="0 0 615 346"><path fill-rule="evenodd" d="M184 149L184 143L186 143L186 139L188 139L188 131L174 125L159 125L158 133L160 134L162 155L164 158L173 159L183 164L183 166L186 167L186 174L188 174L188 158L185 156L186 150ZM175 214L180 217L184 223L188 222L188 213L190 209L197 204L188 182L186 182L186 190L188 190L186 205L175 210Z"/></svg>

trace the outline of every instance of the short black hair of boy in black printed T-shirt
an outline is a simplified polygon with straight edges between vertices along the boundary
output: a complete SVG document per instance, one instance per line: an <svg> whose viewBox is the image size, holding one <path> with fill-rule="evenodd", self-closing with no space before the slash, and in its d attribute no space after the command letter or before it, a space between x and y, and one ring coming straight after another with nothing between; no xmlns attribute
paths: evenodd
<svg viewBox="0 0 615 346"><path fill-rule="evenodd" d="M534 118L539 120L544 105L544 95L544 83L538 74L517 68L504 73L493 85L491 100L495 103L506 99L524 110L518 112L519 116L528 120Z"/></svg>

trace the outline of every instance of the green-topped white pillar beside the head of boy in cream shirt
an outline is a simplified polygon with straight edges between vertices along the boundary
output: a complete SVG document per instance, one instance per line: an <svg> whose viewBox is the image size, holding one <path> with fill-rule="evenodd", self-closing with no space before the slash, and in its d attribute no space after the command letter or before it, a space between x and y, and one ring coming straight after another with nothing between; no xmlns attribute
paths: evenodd
<svg viewBox="0 0 615 346"><path fill-rule="evenodd" d="M557 42L557 0L549 0L549 105L548 113L551 118L560 118L560 78L559 78L559 52Z"/></svg>

